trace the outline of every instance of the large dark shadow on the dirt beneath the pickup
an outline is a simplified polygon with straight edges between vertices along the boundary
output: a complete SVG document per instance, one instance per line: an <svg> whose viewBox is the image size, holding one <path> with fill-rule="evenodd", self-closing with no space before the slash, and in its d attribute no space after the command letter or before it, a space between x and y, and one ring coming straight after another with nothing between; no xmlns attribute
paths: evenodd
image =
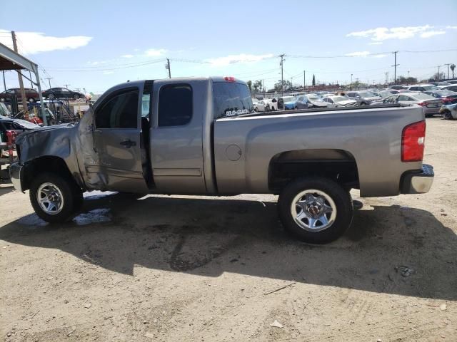
<svg viewBox="0 0 457 342"><path fill-rule="evenodd" d="M368 207L323 246L283 232L276 203L117 194L86 199L73 222L35 214L0 227L0 239L60 249L111 271L134 266L224 272L378 293L457 300L457 236L429 212Z"/></svg>

